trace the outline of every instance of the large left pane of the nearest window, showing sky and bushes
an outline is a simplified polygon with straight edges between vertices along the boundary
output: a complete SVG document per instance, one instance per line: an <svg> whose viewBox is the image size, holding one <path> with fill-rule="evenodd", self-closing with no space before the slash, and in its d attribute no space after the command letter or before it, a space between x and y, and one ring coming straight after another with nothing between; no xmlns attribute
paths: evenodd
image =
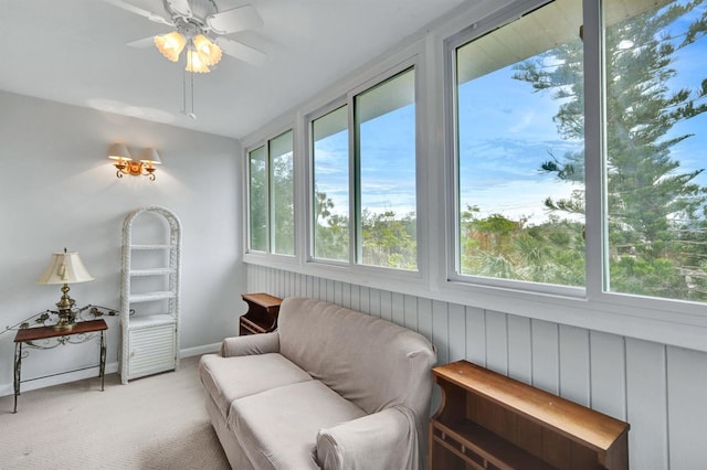
<svg viewBox="0 0 707 470"><path fill-rule="evenodd" d="M456 50L463 275L584 285L581 3L557 0Z"/></svg>

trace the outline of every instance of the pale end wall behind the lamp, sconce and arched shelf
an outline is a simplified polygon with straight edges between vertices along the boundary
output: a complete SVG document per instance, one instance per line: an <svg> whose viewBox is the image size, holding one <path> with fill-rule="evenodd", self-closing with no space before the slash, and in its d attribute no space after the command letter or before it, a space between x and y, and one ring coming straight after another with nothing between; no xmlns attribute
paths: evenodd
<svg viewBox="0 0 707 470"><path fill-rule="evenodd" d="M51 253L64 247L78 252L95 277L71 286L76 305L118 309L123 220L151 204L172 210L183 227L182 354L208 350L238 331L246 281L236 140L4 92L0 110L0 331L55 309L60 286L35 280ZM116 178L106 158L112 142L158 149L157 181ZM107 323L110 372L117 370L117 317ZM0 395L12 393L13 338L0 334ZM31 351L23 378L96 362L96 350Z"/></svg>

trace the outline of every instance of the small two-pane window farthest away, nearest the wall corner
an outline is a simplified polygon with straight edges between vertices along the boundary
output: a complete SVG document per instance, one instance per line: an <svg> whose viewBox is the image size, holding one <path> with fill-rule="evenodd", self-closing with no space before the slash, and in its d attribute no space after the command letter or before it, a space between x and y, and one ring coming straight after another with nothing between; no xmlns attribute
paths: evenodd
<svg viewBox="0 0 707 470"><path fill-rule="evenodd" d="M249 152L250 249L295 254L293 132Z"/></svg>

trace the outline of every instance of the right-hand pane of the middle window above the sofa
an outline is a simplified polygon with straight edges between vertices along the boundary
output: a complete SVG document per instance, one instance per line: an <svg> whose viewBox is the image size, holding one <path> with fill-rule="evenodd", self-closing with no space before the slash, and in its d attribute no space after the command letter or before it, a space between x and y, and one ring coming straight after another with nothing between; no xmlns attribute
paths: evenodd
<svg viewBox="0 0 707 470"><path fill-rule="evenodd" d="M416 269L414 70L358 95L355 105L357 261Z"/></svg>

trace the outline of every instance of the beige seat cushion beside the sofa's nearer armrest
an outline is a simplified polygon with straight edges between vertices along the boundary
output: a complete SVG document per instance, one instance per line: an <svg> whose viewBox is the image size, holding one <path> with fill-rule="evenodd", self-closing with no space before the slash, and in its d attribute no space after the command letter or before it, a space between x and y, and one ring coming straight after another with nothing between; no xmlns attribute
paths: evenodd
<svg viewBox="0 0 707 470"><path fill-rule="evenodd" d="M323 383L309 381L234 400L229 427L257 469L318 469L318 430L365 415Z"/></svg>

